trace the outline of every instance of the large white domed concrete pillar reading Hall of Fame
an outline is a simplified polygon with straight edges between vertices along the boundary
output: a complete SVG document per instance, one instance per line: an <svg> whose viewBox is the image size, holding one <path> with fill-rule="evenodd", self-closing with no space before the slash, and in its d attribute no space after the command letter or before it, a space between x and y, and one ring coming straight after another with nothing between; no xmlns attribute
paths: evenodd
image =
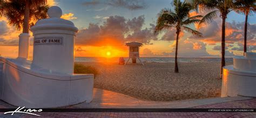
<svg viewBox="0 0 256 118"><path fill-rule="evenodd" d="M78 28L60 18L62 9L52 6L48 19L38 20L33 32L33 61L31 68L41 67L50 72L73 73L74 47Z"/></svg>

